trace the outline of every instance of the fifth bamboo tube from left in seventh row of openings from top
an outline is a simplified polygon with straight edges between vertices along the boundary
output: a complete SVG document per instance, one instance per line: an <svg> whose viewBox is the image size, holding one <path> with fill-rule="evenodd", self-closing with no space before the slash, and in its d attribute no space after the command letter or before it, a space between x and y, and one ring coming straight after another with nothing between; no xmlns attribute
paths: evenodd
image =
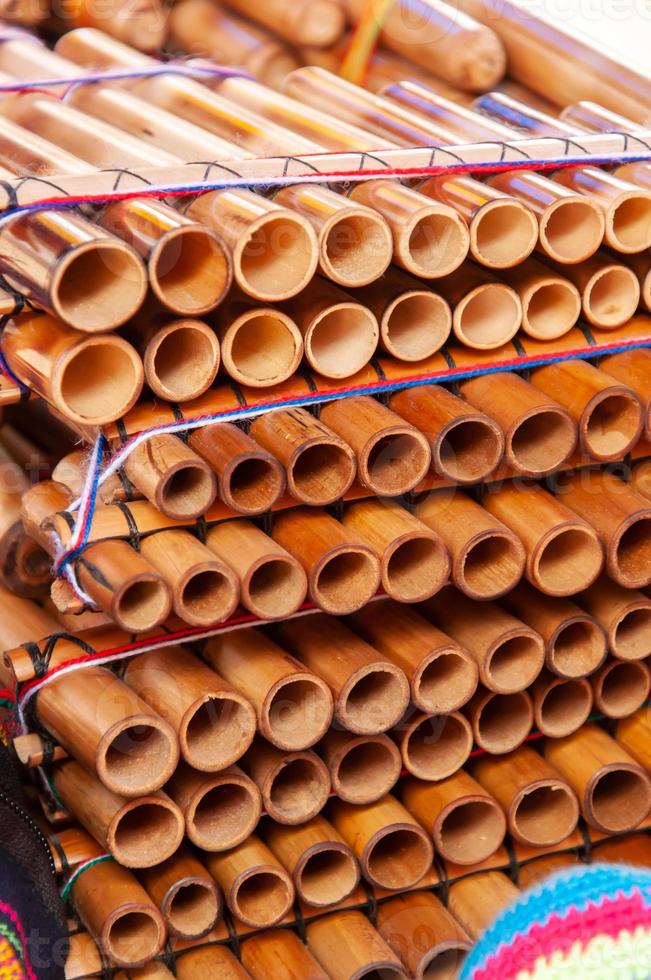
<svg viewBox="0 0 651 980"><path fill-rule="evenodd" d="M390 795L376 803L330 804L330 820L355 852L362 874L379 888L410 888L432 864L432 844L405 807Z"/></svg>

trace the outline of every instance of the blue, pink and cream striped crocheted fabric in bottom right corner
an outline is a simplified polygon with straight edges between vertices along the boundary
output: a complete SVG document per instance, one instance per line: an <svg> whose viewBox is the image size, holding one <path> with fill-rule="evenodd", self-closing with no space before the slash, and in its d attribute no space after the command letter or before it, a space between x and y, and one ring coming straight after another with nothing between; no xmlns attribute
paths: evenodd
<svg viewBox="0 0 651 980"><path fill-rule="evenodd" d="M651 871L593 864L562 871L505 909L461 980L647 980Z"/></svg>

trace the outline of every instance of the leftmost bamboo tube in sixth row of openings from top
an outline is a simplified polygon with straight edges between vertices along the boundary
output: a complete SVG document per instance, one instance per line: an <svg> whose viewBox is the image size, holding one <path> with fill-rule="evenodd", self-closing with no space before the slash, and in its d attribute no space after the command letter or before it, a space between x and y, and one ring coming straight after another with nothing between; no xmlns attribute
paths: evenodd
<svg viewBox="0 0 651 980"><path fill-rule="evenodd" d="M181 843L183 816L165 793L125 800L73 761L54 770L53 784L66 810L125 868L160 864Z"/></svg>

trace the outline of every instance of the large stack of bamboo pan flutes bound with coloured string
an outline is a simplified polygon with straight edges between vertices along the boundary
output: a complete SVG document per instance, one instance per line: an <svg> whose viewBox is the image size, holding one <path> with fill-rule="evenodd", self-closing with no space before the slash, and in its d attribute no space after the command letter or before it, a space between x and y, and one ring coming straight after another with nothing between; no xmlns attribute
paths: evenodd
<svg viewBox="0 0 651 980"><path fill-rule="evenodd" d="M0 92L11 186L636 129L314 67L282 95L167 74L61 98L48 79L152 59L94 29L56 49L0 44L0 82L41 82ZM651 864L627 836L651 825L651 351L574 356L651 335L650 246L646 163L0 222L0 349L32 394L0 426L0 687L68 881L68 980L451 978L580 847ZM419 382L446 365L473 370ZM139 442L52 581L100 432L110 454L339 390Z"/></svg>

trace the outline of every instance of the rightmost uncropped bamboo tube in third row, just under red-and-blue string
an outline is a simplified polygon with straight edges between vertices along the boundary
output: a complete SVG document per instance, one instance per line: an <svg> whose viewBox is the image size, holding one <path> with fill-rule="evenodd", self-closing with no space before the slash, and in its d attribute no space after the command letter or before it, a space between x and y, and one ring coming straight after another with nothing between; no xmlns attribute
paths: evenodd
<svg viewBox="0 0 651 980"><path fill-rule="evenodd" d="M532 371L531 384L576 419L579 446L594 459L621 459L641 435L642 406L637 395L592 364L581 360L548 364Z"/></svg>

